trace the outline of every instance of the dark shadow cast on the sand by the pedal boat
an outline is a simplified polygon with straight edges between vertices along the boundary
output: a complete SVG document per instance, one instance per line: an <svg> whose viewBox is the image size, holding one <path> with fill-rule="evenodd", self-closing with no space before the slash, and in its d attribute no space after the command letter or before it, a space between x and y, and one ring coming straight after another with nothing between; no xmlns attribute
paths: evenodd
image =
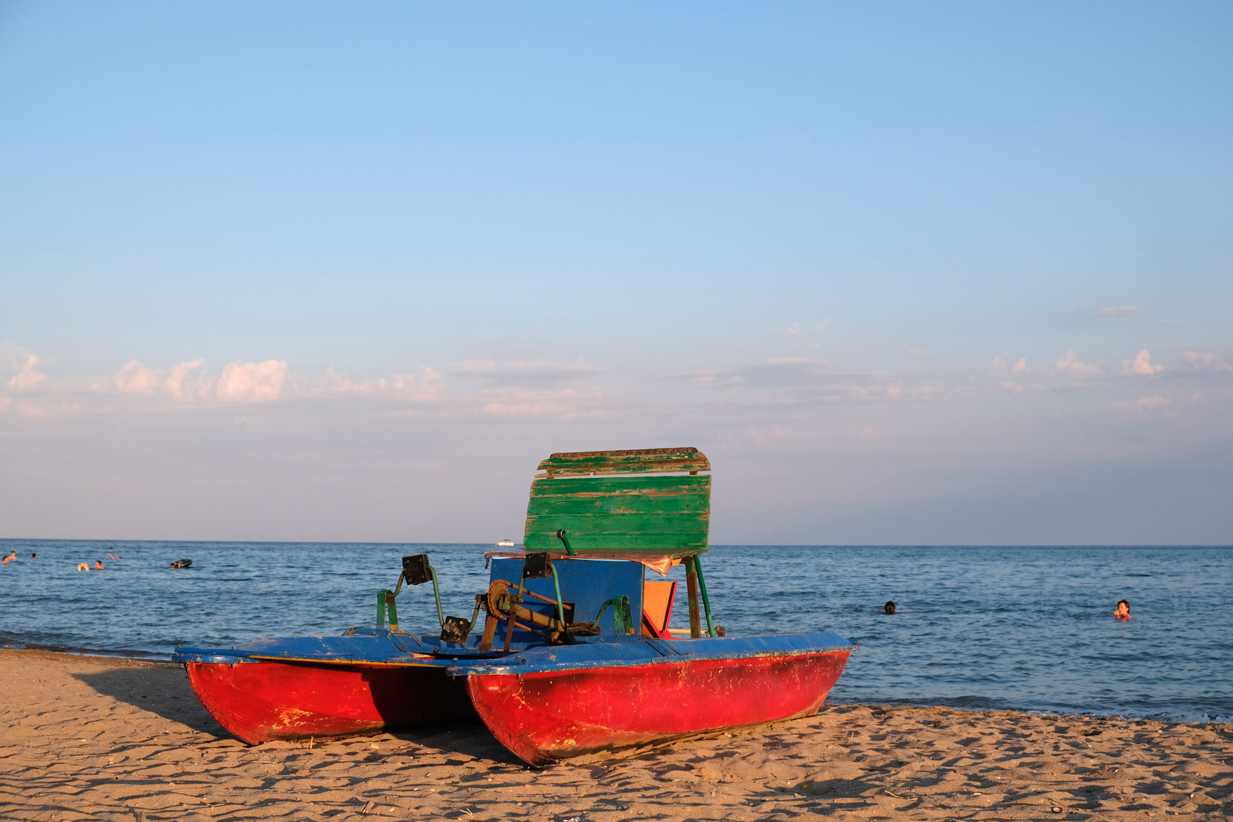
<svg viewBox="0 0 1233 822"><path fill-rule="evenodd" d="M216 739L236 739L215 717L210 716L210 712L197 700L181 665L174 663L145 663L134 667L110 668L99 673L76 673L73 675L104 696L133 705L143 711L149 711L164 720L176 722ZM387 731L375 736L395 738L399 742L428 748L446 755L457 754L486 759L493 764L522 764L517 757L510 754L509 751L488 733L487 728L478 721L478 717L470 722L425 725L416 728ZM308 747L309 744L321 746L332 741L321 738L313 742L308 739L292 739L268 742L266 744L270 747Z"/></svg>

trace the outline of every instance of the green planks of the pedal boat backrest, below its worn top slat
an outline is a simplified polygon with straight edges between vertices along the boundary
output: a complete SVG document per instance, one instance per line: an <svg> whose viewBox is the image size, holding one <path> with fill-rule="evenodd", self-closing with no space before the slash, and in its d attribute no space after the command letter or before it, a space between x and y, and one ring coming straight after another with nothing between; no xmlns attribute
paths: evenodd
<svg viewBox="0 0 1233 822"><path fill-rule="evenodd" d="M710 530L709 476L541 478L531 483L523 547L697 553Z"/></svg>

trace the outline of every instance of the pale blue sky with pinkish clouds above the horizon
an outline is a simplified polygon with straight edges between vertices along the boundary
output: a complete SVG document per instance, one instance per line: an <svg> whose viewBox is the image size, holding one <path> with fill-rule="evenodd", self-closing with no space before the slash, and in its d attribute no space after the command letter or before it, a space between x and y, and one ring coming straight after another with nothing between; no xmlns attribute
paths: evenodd
<svg viewBox="0 0 1233 822"><path fill-rule="evenodd" d="M0 536L1233 542L1228 2L0 2Z"/></svg>

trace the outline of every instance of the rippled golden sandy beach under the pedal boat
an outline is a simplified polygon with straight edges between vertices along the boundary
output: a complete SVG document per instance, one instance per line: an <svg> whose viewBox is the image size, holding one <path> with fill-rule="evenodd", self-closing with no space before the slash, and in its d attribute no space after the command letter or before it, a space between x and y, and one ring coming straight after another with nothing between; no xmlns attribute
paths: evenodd
<svg viewBox="0 0 1233 822"><path fill-rule="evenodd" d="M544 770L482 726L249 747L169 663L0 651L0 818L1226 820L1233 726L834 705Z"/></svg>

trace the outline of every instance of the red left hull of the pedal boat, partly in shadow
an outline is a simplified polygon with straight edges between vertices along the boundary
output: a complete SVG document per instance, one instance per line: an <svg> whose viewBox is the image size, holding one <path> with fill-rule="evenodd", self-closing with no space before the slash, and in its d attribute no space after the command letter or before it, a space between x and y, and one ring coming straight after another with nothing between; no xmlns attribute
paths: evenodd
<svg viewBox="0 0 1233 822"><path fill-rule="evenodd" d="M252 744L475 718L466 688L441 668L275 661L186 668L211 716Z"/></svg>

